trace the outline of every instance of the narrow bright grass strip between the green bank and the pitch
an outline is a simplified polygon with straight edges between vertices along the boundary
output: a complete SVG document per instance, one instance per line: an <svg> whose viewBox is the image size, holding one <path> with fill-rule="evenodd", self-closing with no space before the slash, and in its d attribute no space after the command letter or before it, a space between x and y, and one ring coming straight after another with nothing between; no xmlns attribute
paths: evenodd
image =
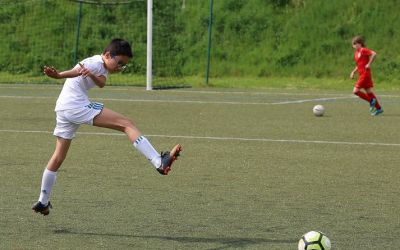
<svg viewBox="0 0 400 250"><path fill-rule="evenodd" d="M142 75L113 74L107 79L107 85L113 86L134 86L145 87L146 79ZM382 91L400 92L400 80L396 78L375 79L375 85ZM45 75L31 74L12 74L0 72L0 84L4 83L40 83L40 84L62 84L65 80L55 80ZM155 88L168 87L194 87L194 88L236 88L263 90L265 88L275 89L313 89L343 91L351 90L354 80L348 76L338 76L336 78L318 77L210 77L206 84L204 76L185 76L185 77L154 77L153 86Z"/></svg>

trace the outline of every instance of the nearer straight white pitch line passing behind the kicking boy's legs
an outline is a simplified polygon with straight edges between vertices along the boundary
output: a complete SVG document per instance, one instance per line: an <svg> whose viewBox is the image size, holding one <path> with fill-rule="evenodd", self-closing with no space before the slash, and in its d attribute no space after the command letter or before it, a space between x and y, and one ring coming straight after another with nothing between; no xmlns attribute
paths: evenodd
<svg viewBox="0 0 400 250"><path fill-rule="evenodd" d="M29 133L29 134L53 134L51 131L39 130L13 130L0 129L0 133ZM125 136L123 133L101 133L101 132L77 132L80 135L93 136ZM146 135L147 137L181 138L192 140L210 141L245 141L245 142L281 142L281 143L304 143L304 144L334 144L334 145L357 145L357 146L388 146L400 147L399 143L382 142L349 142L349 141L321 141L321 140L292 140L292 139L270 139L270 138L244 138L244 137L219 137L219 136L190 136L190 135Z"/></svg>

